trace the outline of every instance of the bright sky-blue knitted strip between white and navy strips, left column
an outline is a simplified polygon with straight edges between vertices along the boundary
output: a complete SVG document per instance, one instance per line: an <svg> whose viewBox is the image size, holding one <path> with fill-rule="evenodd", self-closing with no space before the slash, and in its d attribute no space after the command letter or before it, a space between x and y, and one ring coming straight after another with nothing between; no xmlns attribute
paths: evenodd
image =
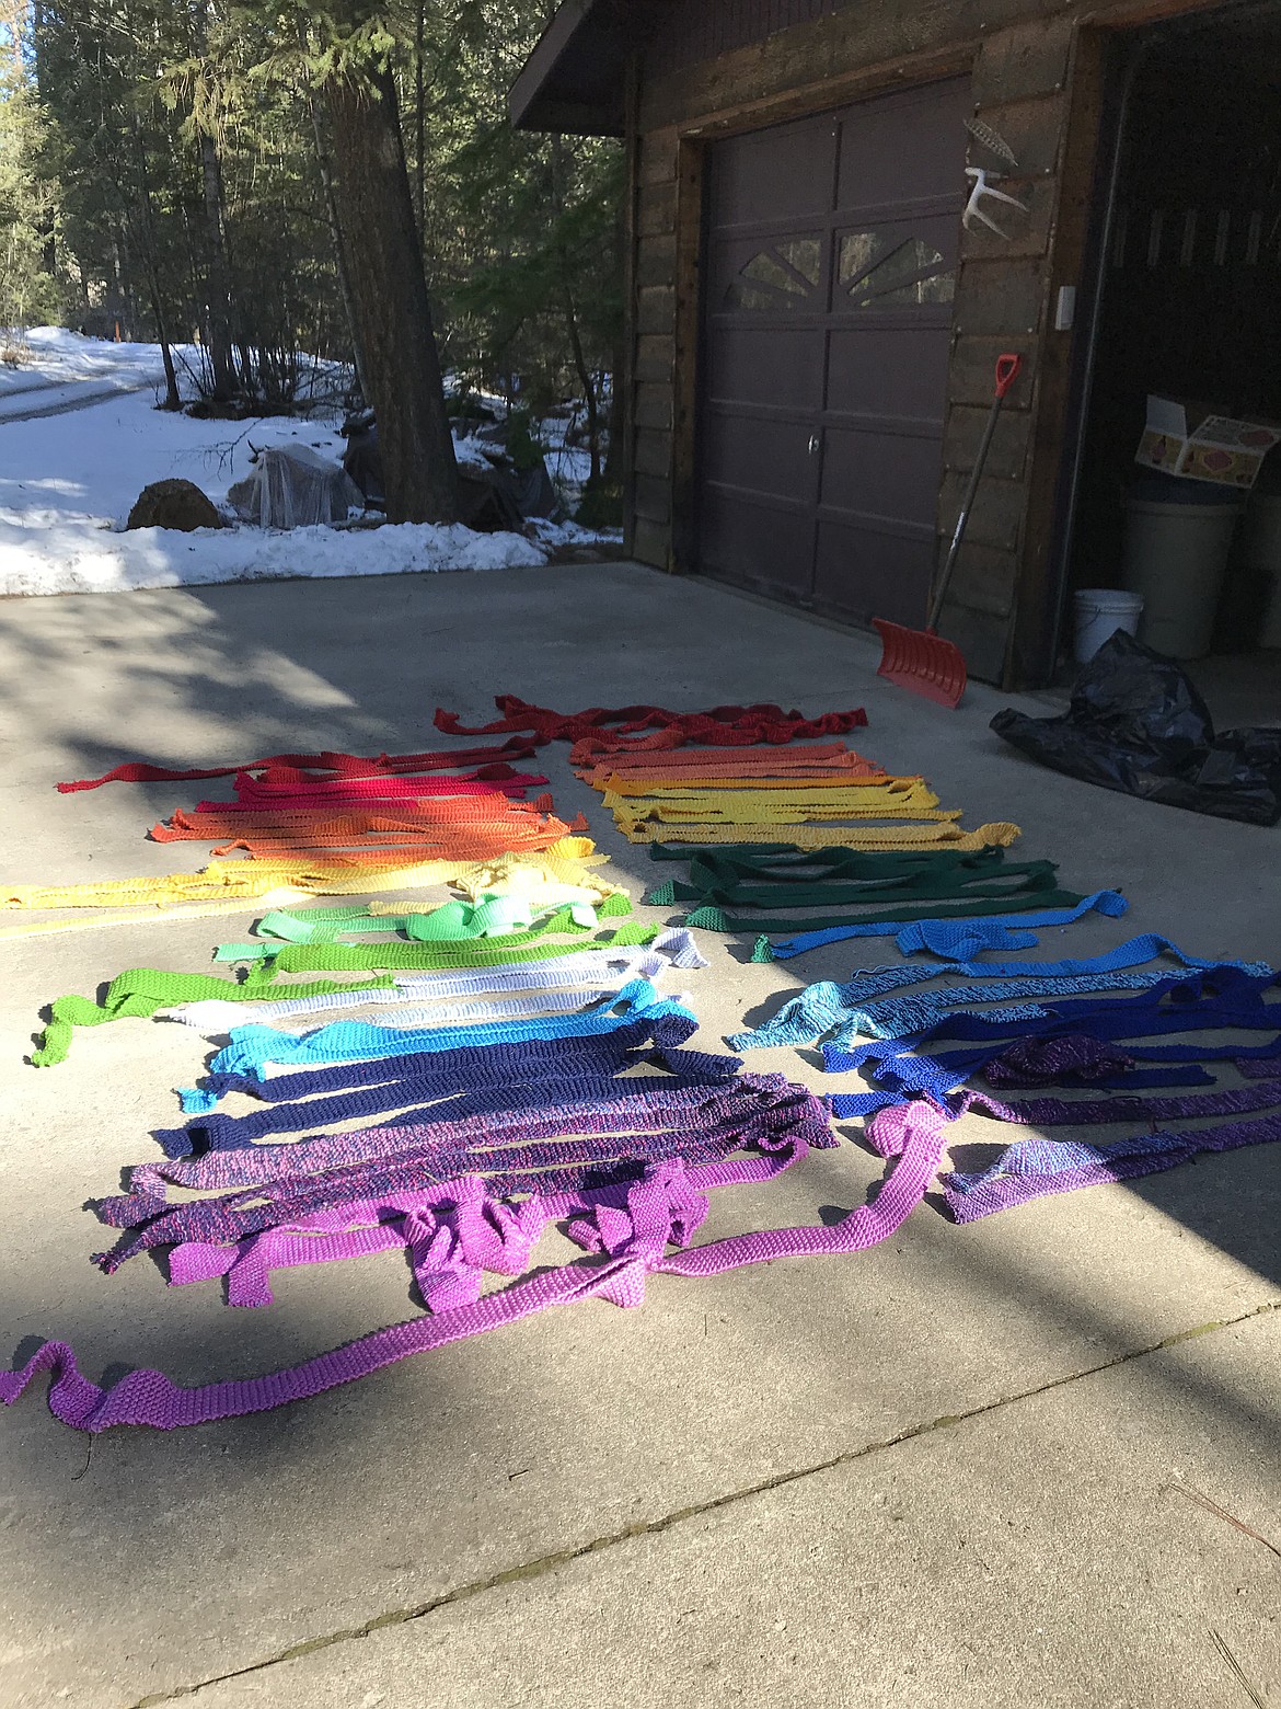
<svg viewBox="0 0 1281 1709"><path fill-rule="evenodd" d="M625 1007L623 1007L625 1005ZM620 1012L622 1010L622 1012ZM519 1039L584 1037L594 1032L613 1032L634 1020L658 1020L663 1015L695 1017L675 998L659 998L647 979L623 988L611 1007L591 1015L548 1015L547 1020L497 1022L480 1027L441 1027L424 1032L401 1032L393 1027L374 1027L367 1022L338 1020L316 1032L297 1036L277 1027L236 1027L231 1044L212 1061L212 1072L256 1073L266 1078L266 1063L333 1063L369 1056L400 1056L410 1046L420 1051L447 1051L461 1044L511 1044Z"/></svg>

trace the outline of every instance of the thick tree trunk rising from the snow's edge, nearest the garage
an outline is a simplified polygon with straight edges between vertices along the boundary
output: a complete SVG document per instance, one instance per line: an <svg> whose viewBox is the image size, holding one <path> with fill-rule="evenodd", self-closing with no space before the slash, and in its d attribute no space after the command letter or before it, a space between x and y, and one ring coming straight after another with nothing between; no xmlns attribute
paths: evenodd
<svg viewBox="0 0 1281 1709"><path fill-rule="evenodd" d="M451 523L458 467L441 357L413 222L396 85L389 68L325 85L333 128L338 224L377 415L388 518Z"/></svg>

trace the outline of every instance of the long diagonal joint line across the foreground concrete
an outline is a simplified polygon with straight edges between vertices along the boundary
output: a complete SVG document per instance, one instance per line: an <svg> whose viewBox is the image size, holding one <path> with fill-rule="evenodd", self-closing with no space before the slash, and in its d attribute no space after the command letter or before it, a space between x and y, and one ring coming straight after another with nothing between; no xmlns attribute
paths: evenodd
<svg viewBox="0 0 1281 1709"><path fill-rule="evenodd" d="M917 1437L927 1436L931 1430L955 1429L956 1425L970 1424L975 1418L984 1418L989 1413L1004 1410L1006 1407L1016 1407L1020 1401L1035 1400L1040 1395L1052 1395L1057 1389L1071 1388L1073 1383L1079 1383L1083 1377L1098 1376L1105 1371L1117 1371L1122 1365L1131 1365L1139 1359L1149 1359L1153 1354L1179 1347L1184 1342L1194 1342L1206 1335L1218 1335L1221 1330L1235 1330L1243 1323L1250 1323L1255 1318L1266 1318L1274 1313L1281 1313L1281 1295L1264 1301L1261 1306L1252 1306L1249 1311L1243 1311L1235 1318L1221 1318L1211 1323L1192 1324L1187 1330L1177 1330L1173 1335L1165 1335L1158 1342L1149 1342L1144 1347L1134 1347L1129 1352L1114 1354L1110 1359L1102 1359L1093 1365L1085 1365L1079 1371L1068 1372L1066 1376L1052 1377L1049 1383L1038 1383L1033 1388L1018 1389L1016 1393L1003 1395L997 1400L984 1401L979 1407L970 1407L967 1412L948 1413L939 1418L910 1424L893 1436L864 1442L859 1448L849 1448L840 1454L834 1454L830 1459L820 1459L808 1466L796 1466L789 1471L777 1471L774 1477L762 1478L757 1483L728 1490L722 1495L712 1495L707 1501L693 1502L688 1507L675 1507L671 1512L659 1514L656 1519L642 1519L635 1524L623 1526L618 1531L608 1531L601 1536L594 1536L586 1543L576 1543L572 1548L553 1550L552 1553L540 1555L535 1560L521 1562L516 1567L504 1567L502 1572L492 1572L487 1577L458 1584L454 1589L444 1591L441 1596L432 1596L429 1601L415 1603L408 1608L389 1608L360 1625L343 1627L336 1632L325 1632L319 1637L304 1639L301 1644L290 1644L287 1649L282 1649L273 1656L263 1656L260 1661L249 1661L246 1666L232 1668L229 1673L215 1673L208 1678L196 1680L191 1685L178 1685L169 1692L155 1692L147 1697L138 1697L128 1706L128 1709L157 1709L161 1704L173 1704L179 1702L183 1697L195 1697L214 1685L243 1680L249 1675L263 1673L268 1668L278 1668L287 1661L301 1661L304 1656L313 1656L318 1651L333 1649L338 1644L348 1644L355 1639L372 1637L376 1632L383 1632L388 1627L408 1625L413 1620L424 1620L427 1615L439 1613L442 1608L451 1608L454 1603L470 1601L473 1596L482 1596L485 1591L502 1589L506 1584L531 1583L535 1579L547 1577L550 1572L559 1572L560 1567L567 1567L574 1560L594 1555L603 1548L617 1548L620 1543L629 1543L642 1536L661 1536L664 1531L670 1531L678 1524L685 1524L690 1519L700 1519L705 1514L721 1512L726 1507L734 1507L740 1502L752 1501L755 1495L769 1495L772 1490L786 1489L791 1483L801 1483L806 1478L818 1477L823 1471L834 1471L839 1466L856 1465L861 1459L869 1459L873 1454L886 1453L893 1448L904 1446L905 1442L912 1442Z"/></svg>

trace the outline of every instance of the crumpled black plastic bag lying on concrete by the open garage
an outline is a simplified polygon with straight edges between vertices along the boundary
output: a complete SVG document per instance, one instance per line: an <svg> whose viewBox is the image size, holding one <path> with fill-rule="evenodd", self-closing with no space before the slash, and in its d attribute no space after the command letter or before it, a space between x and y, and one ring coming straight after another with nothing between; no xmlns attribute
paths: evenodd
<svg viewBox="0 0 1281 1709"><path fill-rule="evenodd" d="M1062 718L1008 708L992 730L1044 766L1105 790L1250 825L1281 820L1281 730L1216 737L1184 670L1124 629L1083 667Z"/></svg>

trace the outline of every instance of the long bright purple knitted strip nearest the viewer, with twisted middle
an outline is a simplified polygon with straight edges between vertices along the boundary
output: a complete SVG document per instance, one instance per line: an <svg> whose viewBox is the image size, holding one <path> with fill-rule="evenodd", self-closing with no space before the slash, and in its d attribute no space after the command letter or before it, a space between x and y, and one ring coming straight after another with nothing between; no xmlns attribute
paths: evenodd
<svg viewBox="0 0 1281 1709"><path fill-rule="evenodd" d="M12 1374L0 1374L0 1400L12 1403L41 1371L53 1372L50 1408L65 1424L82 1430L106 1430L114 1424L149 1424L173 1430L212 1418L266 1412L287 1401L306 1400L342 1383L352 1383L412 1354L446 1347L470 1335L514 1323L548 1306L601 1297L620 1306L644 1301L646 1278L654 1273L707 1277L745 1265L791 1256L835 1256L866 1251L892 1236L924 1198L943 1154L943 1116L926 1104L910 1106L910 1125L902 1133L902 1155L893 1174L871 1205L863 1205L832 1227L774 1229L743 1234L692 1251L666 1254L676 1217L676 1166L664 1166L627 1191L627 1207L605 1222L598 1213L603 1258L576 1261L518 1282L429 1318L400 1323L290 1371L239 1383L179 1388L159 1371L133 1371L104 1391L80 1376L65 1342L46 1342Z"/></svg>

